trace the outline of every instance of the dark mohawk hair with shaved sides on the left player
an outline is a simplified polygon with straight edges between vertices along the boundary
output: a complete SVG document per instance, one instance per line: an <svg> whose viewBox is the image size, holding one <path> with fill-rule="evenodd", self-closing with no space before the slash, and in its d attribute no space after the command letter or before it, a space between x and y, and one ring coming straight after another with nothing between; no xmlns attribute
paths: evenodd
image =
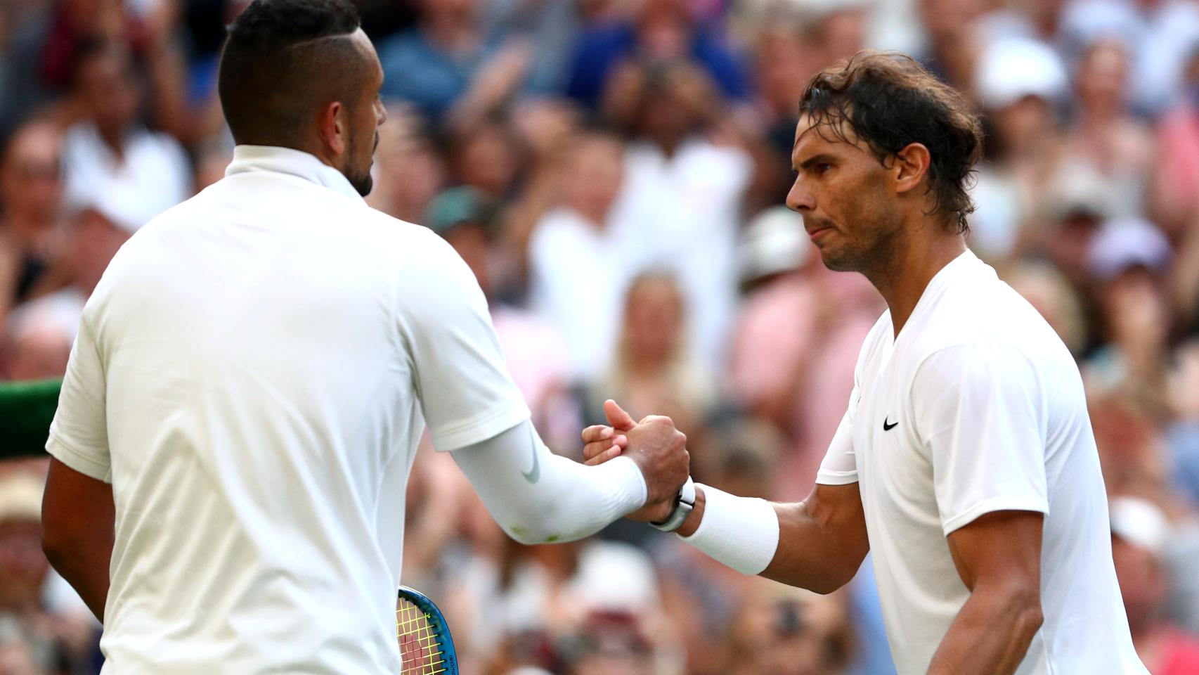
<svg viewBox="0 0 1199 675"><path fill-rule="evenodd" d="M353 109L366 60L349 0L254 0L229 26L217 90L239 144L294 145L331 101Z"/></svg>

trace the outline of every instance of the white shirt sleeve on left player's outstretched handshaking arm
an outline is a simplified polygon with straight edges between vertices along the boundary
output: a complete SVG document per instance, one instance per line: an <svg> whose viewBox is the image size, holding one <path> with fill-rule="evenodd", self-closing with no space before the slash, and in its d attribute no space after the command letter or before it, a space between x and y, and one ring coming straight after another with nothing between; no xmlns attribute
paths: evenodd
<svg viewBox="0 0 1199 675"><path fill-rule="evenodd" d="M452 451L529 418L475 275L439 236L400 272L396 320L433 445Z"/></svg>

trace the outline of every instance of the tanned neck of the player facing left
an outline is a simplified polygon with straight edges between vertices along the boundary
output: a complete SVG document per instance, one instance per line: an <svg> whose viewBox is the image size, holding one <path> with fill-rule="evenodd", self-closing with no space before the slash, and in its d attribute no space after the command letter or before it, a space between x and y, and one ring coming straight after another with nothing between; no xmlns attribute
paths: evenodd
<svg viewBox="0 0 1199 675"><path fill-rule="evenodd" d="M904 228L911 236L896 251L891 264L866 275L891 309L896 337L911 318L928 282L966 249L965 239L950 234L947 227L940 218L922 217L918 224Z"/></svg>

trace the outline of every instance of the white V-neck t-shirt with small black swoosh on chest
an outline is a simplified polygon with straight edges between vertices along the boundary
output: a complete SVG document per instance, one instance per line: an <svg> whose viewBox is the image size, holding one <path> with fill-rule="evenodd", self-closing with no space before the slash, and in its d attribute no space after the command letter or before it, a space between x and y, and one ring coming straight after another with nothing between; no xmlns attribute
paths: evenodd
<svg viewBox="0 0 1199 675"><path fill-rule="evenodd" d="M965 252L894 338L879 319L817 478L858 483L900 675L923 674L970 597L946 537L993 511L1046 513L1044 623L1019 675L1147 674L1111 562L1078 367L1049 324Z"/></svg>

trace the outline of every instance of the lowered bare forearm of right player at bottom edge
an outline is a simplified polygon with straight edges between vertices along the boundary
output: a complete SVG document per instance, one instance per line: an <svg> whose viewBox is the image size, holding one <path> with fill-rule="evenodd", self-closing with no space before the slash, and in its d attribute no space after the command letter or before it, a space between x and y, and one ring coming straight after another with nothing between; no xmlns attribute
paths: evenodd
<svg viewBox="0 0 1199 675"><path fill-rule="evenodd" d="M941 640L928 675L1011 675L1041 622L1036 598L976 587Z"/></svg>

